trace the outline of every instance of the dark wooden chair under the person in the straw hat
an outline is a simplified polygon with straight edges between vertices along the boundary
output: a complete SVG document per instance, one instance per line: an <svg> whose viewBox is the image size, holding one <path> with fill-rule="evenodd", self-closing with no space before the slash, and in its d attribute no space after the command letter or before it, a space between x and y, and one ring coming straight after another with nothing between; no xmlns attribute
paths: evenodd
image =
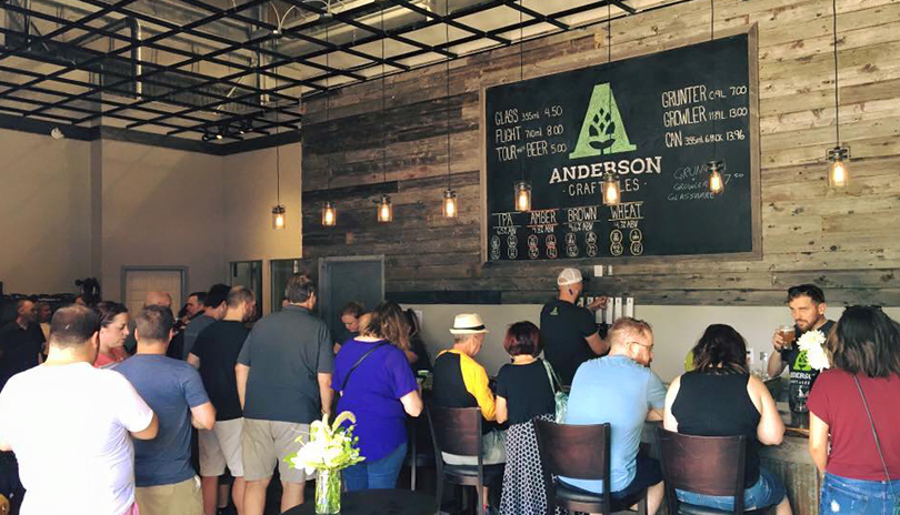
<svg viewBox="0 0 900 515"><path fill-rule="evenodd" d="M503 465L484 465L481 457L481 410L478 407L426 407L434 442L434 464L438 472L436 497L443 499L443 481L461 486L474 486L478 514L484 515L483 486L503 475ZM478 458L478 465L448 465L441 453Z"/></svg>

